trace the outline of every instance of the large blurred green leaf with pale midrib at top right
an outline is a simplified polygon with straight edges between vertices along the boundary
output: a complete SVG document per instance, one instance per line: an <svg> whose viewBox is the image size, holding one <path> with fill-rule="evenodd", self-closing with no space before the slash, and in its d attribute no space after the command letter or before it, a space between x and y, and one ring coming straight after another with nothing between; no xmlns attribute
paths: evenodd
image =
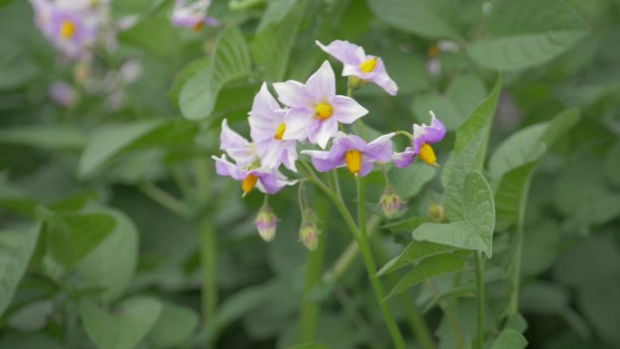
<svg viewBox="0 0 620 349"><path fill-rule="evenodd" d="M501 0L493 2L489 36L472 44L468 53L483 67L516 71L553 60L587 34L564 1Z"/></svg>

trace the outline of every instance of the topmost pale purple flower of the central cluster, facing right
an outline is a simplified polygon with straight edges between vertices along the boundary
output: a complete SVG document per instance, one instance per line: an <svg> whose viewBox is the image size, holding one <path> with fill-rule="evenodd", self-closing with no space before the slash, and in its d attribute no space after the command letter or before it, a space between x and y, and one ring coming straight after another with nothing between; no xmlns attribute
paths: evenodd
<svg viewBox="0 0 620 349"><path fill-rule="evenodd" d="M355 76L362 79L363 83L374 82L392 96L398 92L398 86L385 71L381 57L368 55L364 53L362 46L344 40L334 40L326 46L318 40L315 43L323 51L344 63L343 76Z"/></svg>

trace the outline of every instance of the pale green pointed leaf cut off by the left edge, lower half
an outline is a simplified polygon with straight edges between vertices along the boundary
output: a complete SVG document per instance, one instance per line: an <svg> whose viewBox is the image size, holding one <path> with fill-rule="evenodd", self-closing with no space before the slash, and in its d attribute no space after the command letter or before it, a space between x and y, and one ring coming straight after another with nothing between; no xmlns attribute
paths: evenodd
<svg viewBox="0 0 620 349"><path fill-rule="evenodd" d="M11 304L39 238L41 225L26 230L0 231L0 316Z"/></svg>

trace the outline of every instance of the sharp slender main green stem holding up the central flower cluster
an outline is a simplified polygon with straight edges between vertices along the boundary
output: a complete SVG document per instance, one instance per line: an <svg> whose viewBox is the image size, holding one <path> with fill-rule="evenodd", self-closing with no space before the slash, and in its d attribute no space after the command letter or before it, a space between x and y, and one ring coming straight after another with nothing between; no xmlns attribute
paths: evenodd
<svg viewBox="0 0 620 349"><path fill-rule="evenodd" d="M404 340L402 339L401 331L399 330L398 325L396 325L396 321L394 321L390 307L387 303L383 302L385 292L383 291L381 281L376 276L377 267L374 264L373 253L368 241L368 233L366 232L366 194L363 179L361 177L356 177L355 179L357 183L357 221L360 228L358 243L360 245L360 251L362 252L363 263L366 266L366 271L368 272L368 276L373 284L374 296L377 298L377 302L379 302L379 305L381 306L385 324L388 326L388 330L392 335L392 341L394 342L394 345L396 345L396 348L404 349L406 346Z"/></svg>

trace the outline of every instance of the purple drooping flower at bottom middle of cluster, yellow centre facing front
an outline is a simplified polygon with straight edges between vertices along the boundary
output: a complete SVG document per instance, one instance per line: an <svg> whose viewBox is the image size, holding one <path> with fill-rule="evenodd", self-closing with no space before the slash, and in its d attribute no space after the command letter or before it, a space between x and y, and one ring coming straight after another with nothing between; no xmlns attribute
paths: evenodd
<svg viewBox="0 0 620 349"><path fill-rule="evenodd" d="M374 162L392 160L392 137L394 133L385 134L370 143L355 135L339 132L334 139L332 149L304 150L302 154L312 157L316 170L327 172L346 166L355 176L365 176L373 170Z"/></svg>

